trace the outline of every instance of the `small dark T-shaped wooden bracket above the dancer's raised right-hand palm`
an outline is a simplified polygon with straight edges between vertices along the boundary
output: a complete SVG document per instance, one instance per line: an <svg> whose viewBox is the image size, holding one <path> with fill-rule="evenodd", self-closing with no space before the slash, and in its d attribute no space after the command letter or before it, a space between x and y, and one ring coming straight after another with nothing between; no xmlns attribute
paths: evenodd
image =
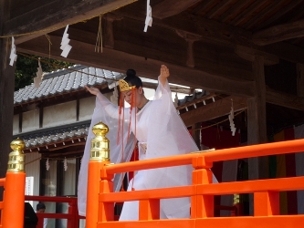
<svg viewBox="0 0 304 228"><path fill-rule="evenodd" d="M183 30L175 30L178 36L183 37L183 39L187 42L187 61L186 66L188 67L195 67L194 62L194 41L200 40L202 36L187 33Z"/></svg>

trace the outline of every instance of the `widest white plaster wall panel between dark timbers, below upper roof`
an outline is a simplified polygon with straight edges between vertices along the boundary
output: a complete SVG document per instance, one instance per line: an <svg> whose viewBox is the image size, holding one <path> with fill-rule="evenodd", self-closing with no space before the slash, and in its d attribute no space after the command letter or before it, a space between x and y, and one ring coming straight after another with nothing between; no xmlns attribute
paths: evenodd
<svg viewBox="0 0 304 228"><path fill-rule="evenodd" d="M76 121L76 100L47 107L43 110L43 128Z"/></svg>

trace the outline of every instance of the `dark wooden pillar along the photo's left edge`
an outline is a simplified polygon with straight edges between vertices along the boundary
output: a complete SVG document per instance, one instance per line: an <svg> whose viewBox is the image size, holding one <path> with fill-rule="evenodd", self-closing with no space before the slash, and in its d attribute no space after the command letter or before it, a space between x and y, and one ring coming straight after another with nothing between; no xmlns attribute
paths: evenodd
<svg viewBox="0 0 304 228"><path fill-rule="evenodd" d="M9 18L10 1L0 0L0 35L3 35L3 25ZM7 42L10 39L0 38L0 177L5 177L10 143L13 140L14 115L14 80L15 67L9 66L9 51L6 53ZM3 188L0 188L2 200Z"/></svg>

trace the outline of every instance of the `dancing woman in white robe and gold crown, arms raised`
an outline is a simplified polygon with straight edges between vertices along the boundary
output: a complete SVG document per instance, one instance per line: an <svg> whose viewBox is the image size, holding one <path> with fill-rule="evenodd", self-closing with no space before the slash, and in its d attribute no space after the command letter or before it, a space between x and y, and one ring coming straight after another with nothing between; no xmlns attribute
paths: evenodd
<svg viewBox="0 0 304 228"><path fill-rule="evenodd" d="M127 77L120 81L120 90L121 98L130 103L131 108L121 109L121 114L120 107L110 103L98 88L87 87L90 93L97 96L97 99L79 172L80 215L86 215L90 140L94 137L91 128L100 120L110 128L107 138L110 140L110 161L113 163L130 161L134 141L138 141L140 161L198 150L183 120L174 108L167 81L169 75L169 69L162 65L158 88L153 100L149 101L144 96L141 78L136 76L135 70L129 69ZM131 130L129 130L129 125ZM190 165L137 171L129 183L128 191L131 191L131 188L136 191L191 185L192 171L193 168ZM122 175L115 175L114 191L120 191L121 178ZM216 181L215 177L214 181ZM189 218L190 198L161 200L160 213L161 219ZM138 219L139 203L124 202L120 220Z"/></svg>

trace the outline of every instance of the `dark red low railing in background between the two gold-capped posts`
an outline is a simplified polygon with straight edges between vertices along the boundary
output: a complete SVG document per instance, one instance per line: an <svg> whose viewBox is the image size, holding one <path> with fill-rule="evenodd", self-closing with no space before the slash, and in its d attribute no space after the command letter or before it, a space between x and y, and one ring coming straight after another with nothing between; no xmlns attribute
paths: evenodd
<svg viewBox="0 0 304 228"><path fill-rule="evenodd" d="M43 228L44 218L67 219L67 228L79 227L79 219L85 219L85 217L79 216L76 197L26 195L26 201L68 203L68 213L37 213L37 217L38 217L37 228Z"/></svg>

